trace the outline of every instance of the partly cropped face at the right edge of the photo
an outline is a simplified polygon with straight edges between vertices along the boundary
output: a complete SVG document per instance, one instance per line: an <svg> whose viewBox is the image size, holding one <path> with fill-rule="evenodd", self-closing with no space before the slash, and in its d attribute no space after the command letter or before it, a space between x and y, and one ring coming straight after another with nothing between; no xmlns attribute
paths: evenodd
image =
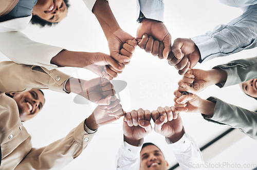
<svg viewBox="0 0 257 170"><path fill-rule="evenodd" d="M253 98L257 98L257 79L251 79L240 84L242 90Z"/></svg>

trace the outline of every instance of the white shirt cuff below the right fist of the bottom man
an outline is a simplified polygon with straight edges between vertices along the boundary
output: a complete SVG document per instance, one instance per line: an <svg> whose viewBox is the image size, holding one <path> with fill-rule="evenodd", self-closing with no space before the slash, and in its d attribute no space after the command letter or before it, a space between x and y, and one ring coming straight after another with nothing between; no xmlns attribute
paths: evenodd
<svg viewBox="0 0 257 170"><path fill-rule="evenodd" d="M191 146L191 141L186 133L175 143L172 143L169 138L165 138L166 142L169 144L174 152L185 152L185 150L189 149Z"/></svg>

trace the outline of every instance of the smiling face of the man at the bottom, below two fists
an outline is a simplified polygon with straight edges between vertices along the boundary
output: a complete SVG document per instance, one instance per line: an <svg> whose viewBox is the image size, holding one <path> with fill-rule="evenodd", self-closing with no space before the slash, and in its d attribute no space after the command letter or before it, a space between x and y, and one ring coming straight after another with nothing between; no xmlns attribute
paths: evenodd
<svg viewBox="0 0 257 170"><path fill-rule="evenodd" d="M148 145L142 148L140 152L140 170L167 170L168 167L169 164L158 147Z"/></svg>

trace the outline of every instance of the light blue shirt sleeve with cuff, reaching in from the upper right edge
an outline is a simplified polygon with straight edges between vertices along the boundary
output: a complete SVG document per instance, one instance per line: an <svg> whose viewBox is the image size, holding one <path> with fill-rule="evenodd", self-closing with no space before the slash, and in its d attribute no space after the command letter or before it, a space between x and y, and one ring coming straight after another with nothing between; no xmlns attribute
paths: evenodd
<svg viewBox="0 0 257 170"><path fill-rule="evenodd" d="M256 5L255 5L256 6ZM220 25L212 32L192 37L199 48L201 59L208 61L243 49L257 46L257 9L250 9L227 25Z"/></svg>

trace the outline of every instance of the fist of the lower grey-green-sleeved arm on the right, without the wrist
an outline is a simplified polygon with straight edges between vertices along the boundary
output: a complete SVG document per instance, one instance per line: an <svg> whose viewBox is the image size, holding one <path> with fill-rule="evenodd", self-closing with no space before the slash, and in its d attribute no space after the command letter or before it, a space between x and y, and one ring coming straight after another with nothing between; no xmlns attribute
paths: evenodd
<svg viewBox="0 0 257 170"><path fill-rule="evenodd" d="M203 99L188 92L174 91L174 106L178 111L201 112Z"/></svg>

